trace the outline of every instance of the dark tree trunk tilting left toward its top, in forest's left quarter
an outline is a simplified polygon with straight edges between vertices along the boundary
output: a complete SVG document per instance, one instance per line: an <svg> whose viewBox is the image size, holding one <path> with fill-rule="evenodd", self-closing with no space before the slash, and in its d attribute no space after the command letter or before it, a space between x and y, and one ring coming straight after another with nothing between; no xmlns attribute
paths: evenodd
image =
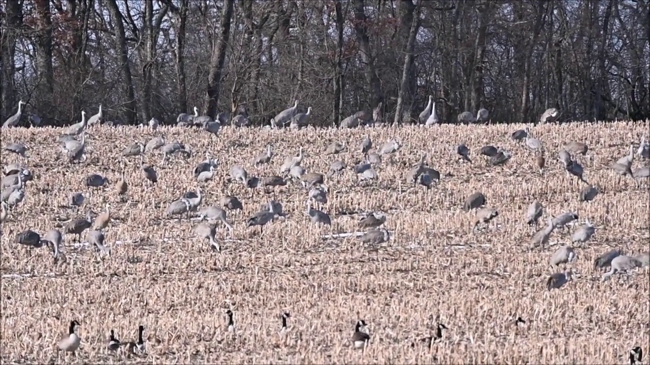
<svg viewBox="0 0 650 365"><path fill-rule="evenodd" d="M124 103L124 121L127 124L136 125L138 116L136 114L135 90L133 88L133 77L131 75L131 66L129 66L129 53L126 46L126 32L122 14L116 0L108 0L110 16L113 18L114 25L117 28L116 53L120 57L120 71L122 72L123 81L126 88L126 100Z"/></svg>

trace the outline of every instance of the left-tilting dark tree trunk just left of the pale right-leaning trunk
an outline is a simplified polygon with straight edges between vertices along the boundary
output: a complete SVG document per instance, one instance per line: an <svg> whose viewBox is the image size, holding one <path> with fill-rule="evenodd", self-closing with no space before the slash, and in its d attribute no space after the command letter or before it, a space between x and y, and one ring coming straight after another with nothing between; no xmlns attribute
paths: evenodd
<svg viewBox="0 0 650 365"><path fill-rule="evenodd" d="M364 0L354 0L354 31L356 32L357 41L359 42L359 51L361 51L361 60L365 66L365 78L370 88L370 108L376 107L380 101L383 101L382 86L377 77L374 68L374 58L370 51L370 38L368 36L368 19L365 16ZM361 106L359 106L361 107Z"/></svg>

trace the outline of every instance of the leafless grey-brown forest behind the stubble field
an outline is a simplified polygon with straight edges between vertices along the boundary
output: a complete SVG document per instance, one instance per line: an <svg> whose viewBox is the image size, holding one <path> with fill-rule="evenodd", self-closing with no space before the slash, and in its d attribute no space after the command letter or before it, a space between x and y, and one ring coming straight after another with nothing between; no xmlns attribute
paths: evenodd
<svg viewBox="0 0 650 365"><path fill-rule="evenodd" d="M138 124L245 110L268 123L300 100L337 124L382 103L441 121L489 110L530 122L650 118L647 1L17 0L2 12L0 113L49 125Z"/></svg>

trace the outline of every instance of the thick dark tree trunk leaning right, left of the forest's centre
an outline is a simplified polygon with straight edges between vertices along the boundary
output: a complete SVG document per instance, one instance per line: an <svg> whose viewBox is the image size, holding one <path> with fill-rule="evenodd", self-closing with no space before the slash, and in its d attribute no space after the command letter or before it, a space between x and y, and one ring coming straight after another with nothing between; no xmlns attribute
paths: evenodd
<svg viewBox="0 0 650 365"><path fill-rule="evenodd" d="M206 108L203 114L216 118L216 104L221 89L221 75L226 60L226 48L230 38L230 21L233 18L235 0L226 0L224 12L221 16L221 32L219 39L212 42L212 56L210 58L210 71L207 78L207 92L205 95Z"/></svg>

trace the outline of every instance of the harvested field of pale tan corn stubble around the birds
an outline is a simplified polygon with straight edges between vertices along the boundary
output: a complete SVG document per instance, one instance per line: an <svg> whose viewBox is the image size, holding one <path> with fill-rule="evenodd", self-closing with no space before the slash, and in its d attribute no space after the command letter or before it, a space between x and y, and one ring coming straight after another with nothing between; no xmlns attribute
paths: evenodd
<svg viewBox="0 0 650 365"><path fill-rule="evenodd" d="M10 129L2 142L23 142L34 173L27 197L3 223L1 238L2 335L0 360L62 362L56 344L70 320L81 327L82 344L68 362L148 363L434 363L460 364L616 364L626 363L634 346L646 353L650 343L649 273L614 275L601 283L593 270L597 255L612 248L638 255L649 247L647 183L638 187L608 168L638 144L648 123L542 125L534 136L547 149L545 176L533 165L533 154L510 140L523 125L451 126L356 130L261 131L224 129L214 137L198 129L161 128L157 132L131 127L94 127L89 131L86 163L70 166L60 151L60 129ZM114 183L120 179L120 151L134 142L146 143L162 132L194 151L189 160L161 165L162 153L147 154L159 183L149 188L139 160L129 158L125 176L129 201L120 203ZM373 151L388 137L402 140L393 158L378 170L378 187L357 186L349 170L361 159L357 145L368 133ZM330 142L348 142L338 156L322 154ZM591 203L578 202L584 184L566 177L556 151L571 140L590 146L585 178L602 189ZM272 142L273 160L261 168L252 158ZM456 162L456 144L472 149L473 164ZM488 168L478 149L484 144L513 151L504 168ZM347 162L340 179L326 179L329 202L320 207L332 218L331 229L311 223L303 213L307 191L299 184L261 188L250 197L241 184L227 183L233 164L251 175L277 173L284 157L303 146L307 171L326 173L335 159ZM209 151L218 160L213 181L201 183L201 207L217 205L224 194L240 197L243 212L228 212L234 230L217 225L222 253L209 250L192 227L197 221L164 218L168 202L199 183L192 170ZM421 153L443 175L429 191L406 184L406 173ZM21 160L2 153L3 164ZM635 160L634 166L640 162ZM101 173L109 188L90 190L84 177ZM445 174L450 175L445 175ZM84 192L86 203L75 213L68 204L72 192ZM473 192L483 192L499 217L472 233L473 213L461 210ZM259 228L246 220L268 199L281 201L286 219ZM530 249L534 229L525 224L528 205L538 199L545 216L577 210L580 224L589 218L597 232L577 248L577 277L558 290L546 289L549 257L570 233L556 230L551 246ZM94 215L112 207L105 230L110 257L75 248L66 236L66 262L53 264L47 248L27 260L14 236L31 228L44 234L88 209ZM391 240L382 247L364 247L357 238L326 241L324 234L357 231L354 216L343 210L387 212ZM85 234L83 235L85 236ZM82 236L82 238L83 238ZM119 241L121 244L116 244ZM138 258L138 260L133 260ZM139 262L136 262L139 261ZM225 310L235 312L237 331L226 331ZM278 336L279 315L290 312L289 334ZM521 316L528 323L517 328ZM357 320L369 324L372 337L364 351L350 346ZM411 342L435 332L437 321L449 328L431 350ZM135 340L137 326L146 327L148 354L125 359L108 355L110 329L125 341Z"/></svg>

